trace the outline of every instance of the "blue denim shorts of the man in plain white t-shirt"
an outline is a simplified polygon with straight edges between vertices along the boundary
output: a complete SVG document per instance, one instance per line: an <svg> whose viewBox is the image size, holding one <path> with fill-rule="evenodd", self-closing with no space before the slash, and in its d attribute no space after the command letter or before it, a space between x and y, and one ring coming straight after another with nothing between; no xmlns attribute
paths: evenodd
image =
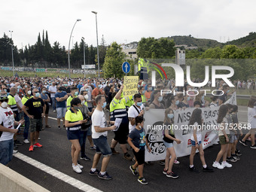
<svg viewBox="0 0 256 192"><path fill-rule="evenodd" d="M96 145L96 154L103 154L103 157L111 156L112 151L108 145L107 137L99 136L98 139L93 139L94 145Z"/></svg>

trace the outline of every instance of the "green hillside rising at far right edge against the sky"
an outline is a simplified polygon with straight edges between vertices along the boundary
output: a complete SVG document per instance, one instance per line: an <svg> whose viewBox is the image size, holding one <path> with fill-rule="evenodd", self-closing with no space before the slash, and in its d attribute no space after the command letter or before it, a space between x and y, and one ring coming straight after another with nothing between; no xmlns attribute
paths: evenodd
<svg viewBox="0 0 256 192"><path fill-rule="evenodd" d="M228 41L227 44L235 44L237 47L256 47L256 32L250 32L243 38Z"/></svg>

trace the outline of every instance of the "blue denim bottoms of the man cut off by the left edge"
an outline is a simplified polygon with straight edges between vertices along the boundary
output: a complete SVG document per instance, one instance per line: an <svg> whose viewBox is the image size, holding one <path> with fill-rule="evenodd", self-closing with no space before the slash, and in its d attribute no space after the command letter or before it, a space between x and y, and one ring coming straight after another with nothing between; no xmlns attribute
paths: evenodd
<svg viewBox="0 0 256 192"><path fill-rule="evenodd" d="M0 142L0 163L7 165L13 158L14 139Z"/></svg>

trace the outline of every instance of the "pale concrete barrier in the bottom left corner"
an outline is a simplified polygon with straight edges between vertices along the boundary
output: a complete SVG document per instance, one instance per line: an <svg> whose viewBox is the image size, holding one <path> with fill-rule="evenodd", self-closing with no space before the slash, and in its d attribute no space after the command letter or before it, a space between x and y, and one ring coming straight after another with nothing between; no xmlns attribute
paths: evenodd
<svg viewBox="0 0 256 192"><path fill-rule="evenodd" d="M47 192L44 187L20 175L0 163L0 191L2 192Z"/></svg>

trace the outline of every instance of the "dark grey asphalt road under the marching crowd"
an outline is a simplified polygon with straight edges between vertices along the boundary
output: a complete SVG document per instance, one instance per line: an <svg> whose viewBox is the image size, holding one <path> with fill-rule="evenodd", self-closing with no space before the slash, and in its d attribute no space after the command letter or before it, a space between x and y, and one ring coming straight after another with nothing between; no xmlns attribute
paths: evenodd
<svg viewBox="0 0 256 192"><path fill-rule="evenodd" d="M239 120L247 121L247 108L239 108ZM50 109L50 117L56 117ZM53 169L63 172L72 178L78 179L90 186L96 187L103 191L255 191L256 189L256 151L249 147L244 147L238 144L238 148L242 152L242 156L236 163L232 163L232 168L224 168L222 170L215 169L215 172L200 172L199 174L190 172L189 157L180 157L179 165L174 165L173 171L179 175L178 179L167 178L163 175L163 166L159 162L154 162L151 166L145 166L144 175L148 180L148 185L142 185L137 181L137 177L130 172L129 166L133 162L123 159L123 155L119 154L111 157L108 165L108 173L113 176L111 181L102 181L95 175L89 175L92 166L92 160L80 160L84 166L81 174L75 173L72 170L71 158L71 143L66 137L66 130L58 130L56 120L49 119L49 124L52 126L41 132L41 145L43 148L35 148L33 152L29 152L29 144L19 146L18 151L25 154L34 160L38 160ZM113 133L108 133L108 142L111 142ZM22 140L23 136L17 136ZM86 152L87 156L93 159L95 151L90 150L89 142L87 141ZM117 145L116 150L120 151L120 146ZM220 150L220 145L213 145L205 150L206 163L212 166L212 162ZM129 151L132 154L132 151ZM101 160L100 160L101 162ZM100 163L98 169L100 168ZM197 154L194 158L194 165L197 168L201 167L200 157ZM23 160L14 157L9 163L9 167L14 171L19 172L26 178L35 181L42 187L50 191L80 191L69 183L53 177L47 172L41 171L35 166L24 162Z"/></svg>

